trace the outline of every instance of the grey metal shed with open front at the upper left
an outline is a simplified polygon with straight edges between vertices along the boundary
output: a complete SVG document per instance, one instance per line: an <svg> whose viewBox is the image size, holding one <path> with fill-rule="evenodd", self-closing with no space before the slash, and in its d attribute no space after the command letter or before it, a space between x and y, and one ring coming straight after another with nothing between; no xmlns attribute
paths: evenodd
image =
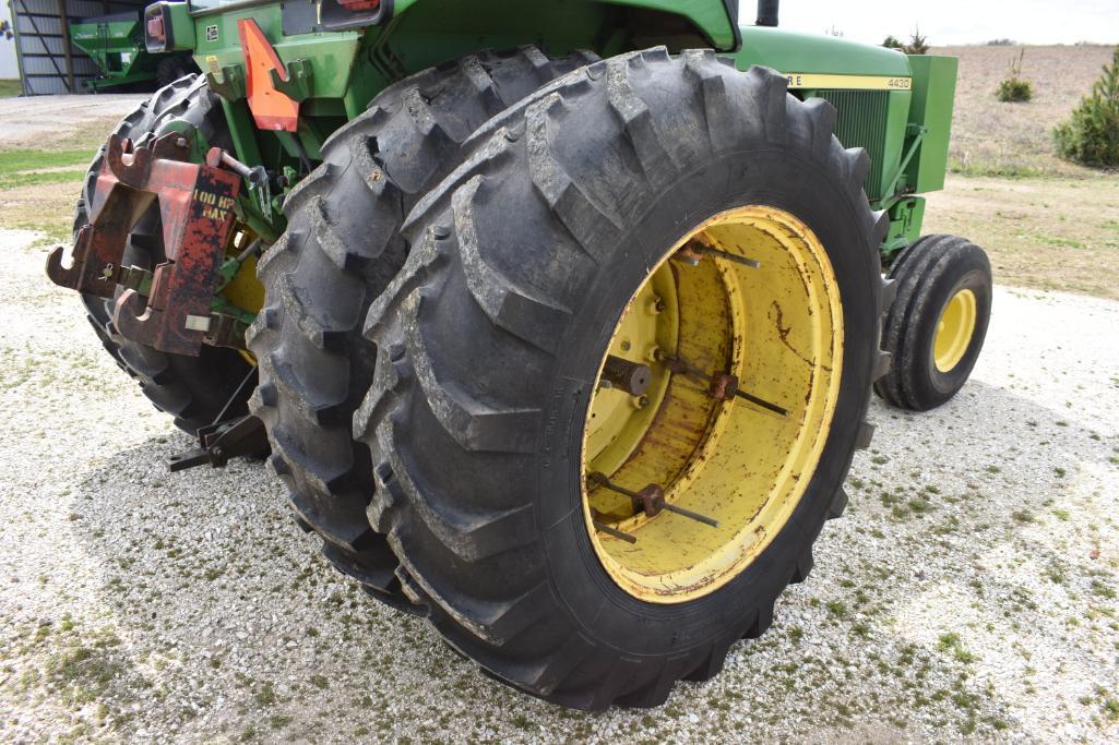
<svg viewBox="0 0 1119 745"><path fill-rule="evenodd" d="M70 44L69 23L79 18L139 11L144 0L8 0L16 31L16 60L23 95L84 93L96 76L93 60Z"/></svg>

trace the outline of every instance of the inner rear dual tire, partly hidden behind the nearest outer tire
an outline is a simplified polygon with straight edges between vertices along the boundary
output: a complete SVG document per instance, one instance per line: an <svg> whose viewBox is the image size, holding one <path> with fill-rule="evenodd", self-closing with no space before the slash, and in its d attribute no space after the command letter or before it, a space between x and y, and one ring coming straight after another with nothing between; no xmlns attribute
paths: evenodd
<svg viewBox="0 0 1119 745"><path fill-rule="evenodd" d="M373 379L361 336L369 303L407 254L404 216L460 162L460 143L495 114L596 58L549 59L535 47L482 51L380 93L335 133L323 163L289 196L289 228L260 264L265 308L250 332L261 365L253 412L264 421L298 519L323 553L402 610L396 558L365 517L368 450L351 418Z"/></svg>

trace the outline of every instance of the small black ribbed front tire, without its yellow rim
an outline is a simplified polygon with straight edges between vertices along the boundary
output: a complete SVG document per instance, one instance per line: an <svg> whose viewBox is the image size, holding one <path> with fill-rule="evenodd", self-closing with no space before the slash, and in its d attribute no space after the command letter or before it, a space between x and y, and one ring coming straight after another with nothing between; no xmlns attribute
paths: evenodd
<svg viewBox="0 0 1119 745"><path fill-rule="evenodd" d="M874 390L899 408L927 412L960 392L982 351L990 321L990 261L982 248L965 238L930 235L897 257L890 279L897 295L886 314L882 342L893 362ZM961 290L975 294L975 331L960 360L940 370L934 359L938 322Z"/></svg>

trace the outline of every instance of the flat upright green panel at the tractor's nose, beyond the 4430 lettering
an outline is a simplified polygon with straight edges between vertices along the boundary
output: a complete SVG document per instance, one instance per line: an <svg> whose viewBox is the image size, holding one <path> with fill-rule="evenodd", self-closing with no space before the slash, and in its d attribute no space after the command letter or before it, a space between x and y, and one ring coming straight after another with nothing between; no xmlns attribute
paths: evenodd
<svg viewBox="0 0 1119 745"><path fill-rule="evenodd" d="M944 188L959 59L913 55L909 60L913 68L913 101L909 120L923 125L928 132L905 170L905 181L910 190L923 194Z"/></svg>

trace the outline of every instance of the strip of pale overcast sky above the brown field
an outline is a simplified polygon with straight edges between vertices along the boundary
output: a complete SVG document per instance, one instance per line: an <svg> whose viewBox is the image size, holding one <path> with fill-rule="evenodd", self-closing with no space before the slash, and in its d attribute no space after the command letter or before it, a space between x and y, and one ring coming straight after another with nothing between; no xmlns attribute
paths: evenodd
<svg viewBox="0 0 1119 745"><path fill-rule="evenodd" d="M742 23L758 17L740 0ZM848 39L881 44L921 26L931 44L1119 44L1119 0L782 0L781 26L821 34L833 26Z"/></svg>

